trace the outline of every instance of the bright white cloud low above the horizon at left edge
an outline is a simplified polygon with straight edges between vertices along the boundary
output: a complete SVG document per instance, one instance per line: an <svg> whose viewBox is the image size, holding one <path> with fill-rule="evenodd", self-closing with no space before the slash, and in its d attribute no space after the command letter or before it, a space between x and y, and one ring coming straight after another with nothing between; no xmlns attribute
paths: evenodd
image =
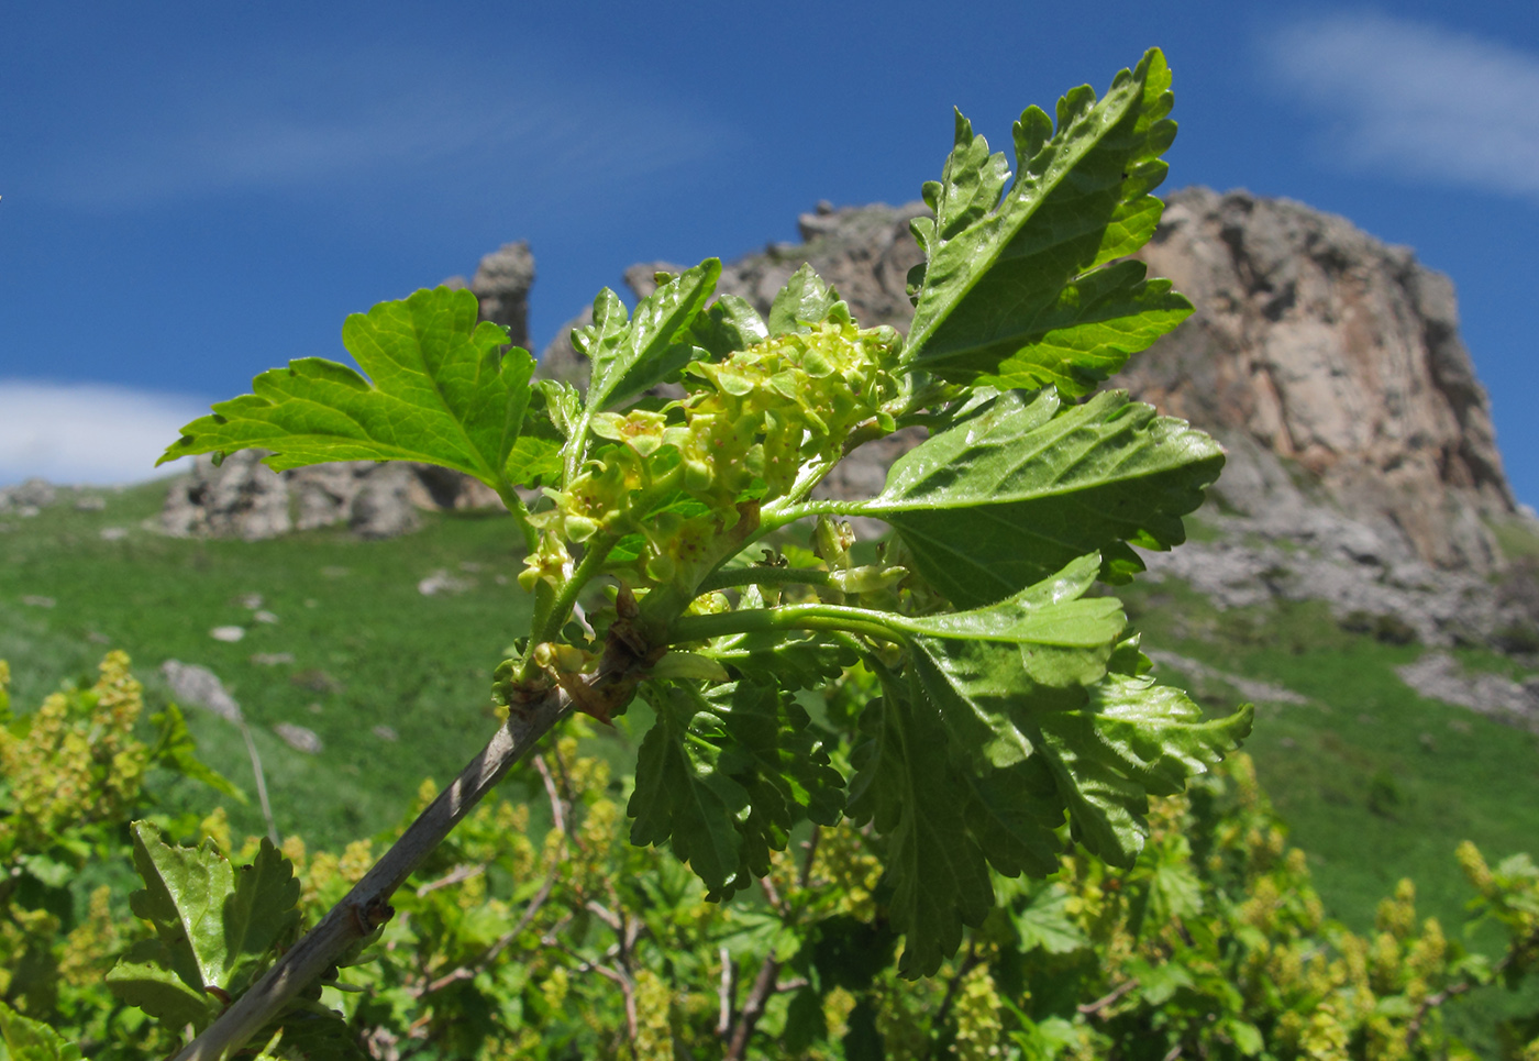
<svg viewBox="0 0 1539 1061"><path fill-rule="evenodd" d="M206 413L183 394L0 379L0 485L37 476L105 487L177 471L155 459Z"/></svg>

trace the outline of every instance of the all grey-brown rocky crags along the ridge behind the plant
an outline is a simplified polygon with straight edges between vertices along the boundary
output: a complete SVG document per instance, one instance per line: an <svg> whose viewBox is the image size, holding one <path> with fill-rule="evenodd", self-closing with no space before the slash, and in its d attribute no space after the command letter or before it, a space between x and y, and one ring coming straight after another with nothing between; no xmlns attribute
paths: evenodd
<svg viewBox="0 0 1539 1061"><path fill-rule="evenodd" d="M786 277L811 262L859 320L905 328L906 274L920 260L908 220L923 209L822 203L800 217L800 243L773 243L723 266L719 290L766 311ZM1448 277L1345 219L1202 188L1170 196L1142 256L1197 311L1113 383L1214 433L1230 453L1202 514L1211 541L1151 556L1154 577L1185 577L1230 605L1322 597L1340 614L1397 616L1428 644L1539 621L1539 607L1522 604L1534 594L1490 588L1504 565L1491 527L1527 517L1502 473ZM640 263L625 280L645 296L656 273L677 269ZM482 316L519 340L532 277L528 246L511 243L483 259L472 280L451 283L476 291ZM568 333L585 320L562 328L542 373L582 377ZM826 490L879 490L885 467L913 442L863 447ZM366 464L285 473L274 477L282 497L260 500L272 490L255 485L263 474L243 464L223 476L200 468L174 491L168 528L254 536L280 531L286 513L289 527L348 520L360 533L391 533L412 524L414 505L494 500L428 470ZM383 479L369 485L371 476ZM254 531L242 513L257 511L271 517L255 519Z"/></svg>

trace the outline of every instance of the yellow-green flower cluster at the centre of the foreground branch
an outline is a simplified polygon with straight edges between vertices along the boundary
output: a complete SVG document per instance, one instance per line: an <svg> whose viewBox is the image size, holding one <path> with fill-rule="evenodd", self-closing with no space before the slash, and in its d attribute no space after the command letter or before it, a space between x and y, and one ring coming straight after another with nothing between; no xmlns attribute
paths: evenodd
<svg viewBox="0 0 1539 1061"><path fill-rule="evenodd" d="M694 362L686 397L593 419L593 433L617 445L565 491L549 491L556 508L536 522L574 542L642 534L645 581L693 571L736 525L739 505L785 496L802 468L837 460L859 425L891 430L882 405L897 396L888 371L897 348L891 328L823 322Z"/></svg>

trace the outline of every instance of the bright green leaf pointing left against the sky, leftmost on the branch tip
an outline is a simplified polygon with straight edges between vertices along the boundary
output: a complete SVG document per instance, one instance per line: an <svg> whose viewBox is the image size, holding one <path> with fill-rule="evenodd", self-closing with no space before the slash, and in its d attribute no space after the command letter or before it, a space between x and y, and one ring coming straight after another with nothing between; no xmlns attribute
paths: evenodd
<svg viewBox="0 0 1539 1061"><path fill-rule="evenodd" d="M476 323L469 291L436 288L352 314L342 342L365 379L319 357L257 376L252 394L194 420L160 462L195 453L272 450L274 470L326 460L422 460L506 494L534 359L494 323ZM372 380L372 382L371 382Z"/></svg>

